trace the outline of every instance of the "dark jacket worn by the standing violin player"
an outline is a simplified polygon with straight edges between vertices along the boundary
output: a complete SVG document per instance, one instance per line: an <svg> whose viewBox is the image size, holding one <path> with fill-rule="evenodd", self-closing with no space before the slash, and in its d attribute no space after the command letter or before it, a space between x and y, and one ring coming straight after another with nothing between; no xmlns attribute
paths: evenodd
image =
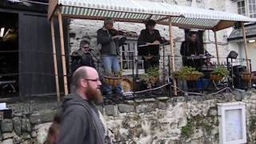
<svg viewBox="0 0 256 144"><path fill-rule="evenodd" d="M103 28L97 31L97 42L102 45L102 49L100 50L102 55L119 55L119 47L122 46L125 41L126 38L113 39L112 36L108 34L108 31Z"/></svg>

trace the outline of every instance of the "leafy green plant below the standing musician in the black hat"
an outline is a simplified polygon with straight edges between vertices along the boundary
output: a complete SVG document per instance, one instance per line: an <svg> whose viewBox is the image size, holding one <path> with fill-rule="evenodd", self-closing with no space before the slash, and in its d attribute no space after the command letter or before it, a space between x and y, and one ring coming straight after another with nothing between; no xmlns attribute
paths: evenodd
<svg viewBox="0 0 256 144"><path fill-rule="evenodd" d="M142 74L142 80L147 84L147 88L151 89L159 79L158 68L152 67Z"/></svg>

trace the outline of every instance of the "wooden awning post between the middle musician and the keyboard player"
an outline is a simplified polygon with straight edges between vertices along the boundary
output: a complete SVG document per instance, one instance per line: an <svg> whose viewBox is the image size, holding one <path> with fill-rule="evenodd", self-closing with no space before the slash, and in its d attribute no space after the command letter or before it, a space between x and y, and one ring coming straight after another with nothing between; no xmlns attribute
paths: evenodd
<svg viewBox="0 0 256 144"><path fill-rule="evenodd" d="M169 34L170 34L170 54L171 54L171 69L174 72L175 71L175 62L174 62L174 38L173 38L173 26L171 24L171 19L170 19L170 24L169 24ZM174 78L174 95L177 95L177 84L176 84L176 80Z"/></svg>

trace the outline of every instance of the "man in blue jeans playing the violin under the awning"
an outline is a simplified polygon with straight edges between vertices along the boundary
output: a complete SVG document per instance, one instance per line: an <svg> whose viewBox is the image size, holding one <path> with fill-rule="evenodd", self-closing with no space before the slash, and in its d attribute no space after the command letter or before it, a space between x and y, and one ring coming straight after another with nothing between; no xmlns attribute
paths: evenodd
<svg viewBox="0 0 256 144"><path fill-rule="evenodd" d="M97 31L97 42L101 46L100 53L102 55L102 64L105 74L120 73L119 47L124 44L126 38L117 34L117 30L113 30L114 21L112 18L106 18L104 26ZM114 31L114 32L113 32ZM117 94L122 94L121 85L116 88ZM112 94L112 87L105 86L106 94Z"/></svg>

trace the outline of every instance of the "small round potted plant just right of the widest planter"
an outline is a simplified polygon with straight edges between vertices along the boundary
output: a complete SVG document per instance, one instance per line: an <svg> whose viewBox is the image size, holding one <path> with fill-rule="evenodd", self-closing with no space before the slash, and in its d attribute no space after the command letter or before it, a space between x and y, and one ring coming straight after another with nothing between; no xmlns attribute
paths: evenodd
<svg viewBox="0 0 256 144"><path fill-rule="evenodd" d="M217 66L213 72L210 74L210 79L214 82L222 80L222 78L227 77L230 74L230 71L226 69L225 66Z"/></svg>

